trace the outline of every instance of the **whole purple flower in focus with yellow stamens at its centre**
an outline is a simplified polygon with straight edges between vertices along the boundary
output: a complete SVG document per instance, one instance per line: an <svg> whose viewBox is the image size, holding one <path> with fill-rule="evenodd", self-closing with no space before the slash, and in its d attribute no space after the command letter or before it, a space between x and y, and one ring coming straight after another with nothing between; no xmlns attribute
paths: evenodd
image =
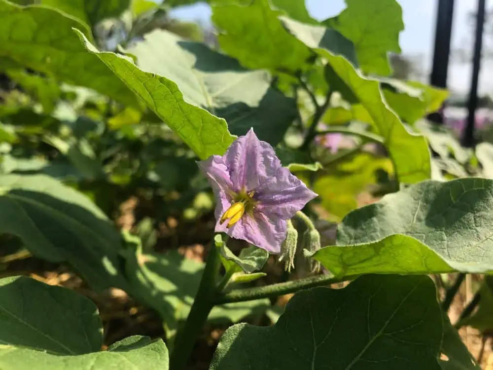
<svg viewBox="0 0 493 370"><path fill-rule="evenodd" d="M223 156L199 162L217 199L215 231L280 253L287 220L315 198L250 129ZM226 222L229 220L228 222Z"/></svg>

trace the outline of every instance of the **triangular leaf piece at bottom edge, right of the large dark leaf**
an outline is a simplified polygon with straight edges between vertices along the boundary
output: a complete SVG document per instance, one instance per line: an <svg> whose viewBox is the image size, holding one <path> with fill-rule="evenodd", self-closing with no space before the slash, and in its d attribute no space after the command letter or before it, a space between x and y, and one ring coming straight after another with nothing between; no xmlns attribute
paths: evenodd
<svg viewBox="0 0 493 370"><path fill-rule="evenodd" d="M474 356L467 350L457 330L443 314L443 339L441 352L448 360L440 360L443 370L481 370Z"/></svg>

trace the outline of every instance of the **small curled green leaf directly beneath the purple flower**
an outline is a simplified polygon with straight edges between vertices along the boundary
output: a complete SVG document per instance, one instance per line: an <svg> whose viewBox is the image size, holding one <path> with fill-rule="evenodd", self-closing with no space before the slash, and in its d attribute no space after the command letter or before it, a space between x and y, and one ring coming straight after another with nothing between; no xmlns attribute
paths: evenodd
<svg viewBox="0 0 493 370"><path fill-rule="evenodd" d="M249 274L261 270L267 262L267 259L269 259L269 252L253 245L243 248L240 255L236 256L226 246L226 243L217 239L218 237L220 238L220 235L216 235L214 237L214 242L216 245L220 246L221 259L223 259L223 264L226 269L232 268L237 272L243 270Z"/></svg>

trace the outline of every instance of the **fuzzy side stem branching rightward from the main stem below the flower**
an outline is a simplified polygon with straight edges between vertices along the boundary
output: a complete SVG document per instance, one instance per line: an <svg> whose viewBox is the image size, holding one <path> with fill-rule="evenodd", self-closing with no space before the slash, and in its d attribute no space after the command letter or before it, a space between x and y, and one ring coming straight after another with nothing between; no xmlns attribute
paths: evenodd
<svg viewBox="0 0 493 370"><path fill-rule="evenodd" d="M335 277L334 275L327 274L309 276L299 280L287 281L285 283L272 284L264 287L234 289L227 293L218 295L216 297L215 304L244 302L253 299L283 296L285 294L295 293L300 289L340 283L343 281L353 280L356 277L358 277L358 275Z"/></svg>

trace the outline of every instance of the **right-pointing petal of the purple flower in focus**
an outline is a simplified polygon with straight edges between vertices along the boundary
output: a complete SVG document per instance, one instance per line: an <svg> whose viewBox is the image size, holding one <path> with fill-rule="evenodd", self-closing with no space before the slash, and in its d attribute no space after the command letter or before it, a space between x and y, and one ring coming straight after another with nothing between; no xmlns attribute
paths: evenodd
<svg viewBox="0 0 493 370"><path fill-rule="evenodd" d="M269 183L259 188L255 196L259 201L256 210L271 219L288 220L315 197L316 193L287 168L281 167Z"/></svg>

